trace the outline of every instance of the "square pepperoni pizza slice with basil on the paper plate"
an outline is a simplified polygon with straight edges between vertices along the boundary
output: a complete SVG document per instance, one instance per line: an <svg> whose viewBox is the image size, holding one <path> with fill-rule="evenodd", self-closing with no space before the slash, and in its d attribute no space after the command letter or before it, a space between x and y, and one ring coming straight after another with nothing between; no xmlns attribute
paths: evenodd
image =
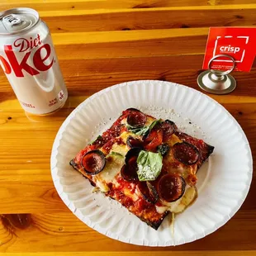
<svg viewBox="0 0 256 256"><path fill-rule="evenodd" d="M157 230L168 213L184 211L197 198L197 171L213 149L173 121L129 108L70 164Z"/></svg>

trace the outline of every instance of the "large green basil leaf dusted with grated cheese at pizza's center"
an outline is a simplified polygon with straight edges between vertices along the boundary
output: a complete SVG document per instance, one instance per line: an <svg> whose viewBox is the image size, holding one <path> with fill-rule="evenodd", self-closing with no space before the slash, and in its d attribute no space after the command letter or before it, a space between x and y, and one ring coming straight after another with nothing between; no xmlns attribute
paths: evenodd
<svg viewBox="0 0 256 256"><path fill-rule="evenodd" d="M160 153L153 153L141 150L137 159L138 178L141 182L154 181L161 173L163 156Z"/></svg>

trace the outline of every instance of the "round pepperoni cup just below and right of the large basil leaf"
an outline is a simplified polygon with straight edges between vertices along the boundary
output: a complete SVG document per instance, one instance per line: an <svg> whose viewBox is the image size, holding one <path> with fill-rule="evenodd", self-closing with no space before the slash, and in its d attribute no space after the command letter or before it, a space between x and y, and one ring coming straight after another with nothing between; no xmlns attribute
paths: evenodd
<svg viewBox="0 0 256 256"><path fill-rule="evenodd" d="M177 201L183 197L186 183L184 179L177 174L164 175L158 183L159 197L164 201Z"/></svg>

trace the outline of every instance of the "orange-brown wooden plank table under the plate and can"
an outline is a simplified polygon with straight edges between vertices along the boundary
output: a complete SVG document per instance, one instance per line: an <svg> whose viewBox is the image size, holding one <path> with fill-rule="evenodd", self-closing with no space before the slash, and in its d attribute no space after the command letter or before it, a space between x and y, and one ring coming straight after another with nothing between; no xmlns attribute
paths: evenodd
<svg viewBox="0 0 256 256"><path fill-rule="evenodd" d="M10 255L255 255L255 173L243 206L226 225L204 239L175 248L124 244L88 228L60 200L50 176L56 132L80 102L102 88L136 79L167 80L199 90L196 81L208 27L253 26L254 1L0 3L1 9L21 6L36 8L50 26L69 100L53 116L28 118L1 72L0 251ZM238 82L234 92L209 95L242 126L254 158L255 74L256 65L250 73L234 73Z"/></svg>

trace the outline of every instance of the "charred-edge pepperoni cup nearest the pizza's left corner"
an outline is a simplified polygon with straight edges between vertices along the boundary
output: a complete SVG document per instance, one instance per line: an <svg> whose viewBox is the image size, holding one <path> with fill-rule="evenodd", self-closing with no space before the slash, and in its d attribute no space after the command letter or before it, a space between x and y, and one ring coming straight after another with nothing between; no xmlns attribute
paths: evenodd
<svg viewBox="0 0 256 256"><path fill-rule="evenodd" d="M102 172L106 164L105 155L100 150L92 150L83 155L81 160L85 173L95 175Z"/></svg>

